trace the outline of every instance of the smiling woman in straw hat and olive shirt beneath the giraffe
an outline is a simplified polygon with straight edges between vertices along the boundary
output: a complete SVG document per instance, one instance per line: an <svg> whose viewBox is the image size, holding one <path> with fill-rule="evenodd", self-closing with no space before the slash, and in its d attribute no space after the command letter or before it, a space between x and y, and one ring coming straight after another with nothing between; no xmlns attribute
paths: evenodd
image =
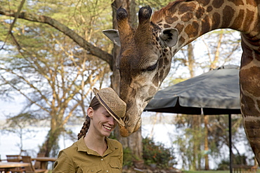
<svg viewBox="0 0 260 173"><path fill-rule="evenodd" d="M126 104L112 88L97 90L87 110L88 116L78 134L78 141L60 151L54 164L57 172L122 172L122 144L109 139L121 118Z"/></svg>

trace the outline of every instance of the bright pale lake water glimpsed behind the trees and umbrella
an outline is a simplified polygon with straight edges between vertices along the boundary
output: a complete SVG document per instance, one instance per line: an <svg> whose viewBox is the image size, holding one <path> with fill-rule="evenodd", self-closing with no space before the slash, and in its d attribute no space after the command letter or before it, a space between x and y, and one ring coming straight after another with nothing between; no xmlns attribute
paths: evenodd
<svg viewBox="0 0 260 173"><path fill-rule="evenodd" d="M178 130L172 122L173 116L164 116L157 117L156 116L142 116L142 136L143 137L152 137L155 142L160 142L164 144L167 148L176 146L173 145L173 141L175 140L176 135L178 134ZM155 123L156 122L156 123ZM155 123L155 124L154 124ZM0 122L1 124L1 122ZM75 137L77 137L77 133L82 128L82 125L73 125L70 127L72 132L74 132ZM27 151L32 157L36 157L39 151L39 145L43 144L46 134L49 130L48 127L27 127L27 130L34 130L30 134L26 134L22 140L23 149ZM76 141L76 140L75 140ZM60 150L63 148L67 148L71 146L74 141L70 139L65 139L63 135L60 137L59 146ZM20 138L16 134L2 134L0 131L0 155L1 159L6 159L6 155L17 155L20 153ZM237 148L240 148L240 151L245 151L245 148L242 147L243 144L237 144ZM176 149L174 150L174 156L178 162L178 165L175 167L181 169L182 160L181 156L176 153ZM228 158L229 152L228 148L223 148L221 153L225 153L225 158ZM242 152L243 153L243 152ZM209 167L211 169L216 168L216 159L212 158L209 155ZM50 167L51 168L51 165Z"/></svg>

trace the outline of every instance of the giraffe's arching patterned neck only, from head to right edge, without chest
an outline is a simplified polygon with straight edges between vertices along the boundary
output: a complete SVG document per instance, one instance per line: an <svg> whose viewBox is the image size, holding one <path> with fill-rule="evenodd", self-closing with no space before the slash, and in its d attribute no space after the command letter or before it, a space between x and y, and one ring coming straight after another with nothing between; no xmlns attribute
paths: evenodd
<svg viewBox="0 0 260 173"><path fill-rule="evenodd" d="M162 28L178 29L178 45L173 49L175 54L183 46L214 29L235 29L250 38L260 39L258 11L256 1L178 0L156 11L152 22Z"/></svg>

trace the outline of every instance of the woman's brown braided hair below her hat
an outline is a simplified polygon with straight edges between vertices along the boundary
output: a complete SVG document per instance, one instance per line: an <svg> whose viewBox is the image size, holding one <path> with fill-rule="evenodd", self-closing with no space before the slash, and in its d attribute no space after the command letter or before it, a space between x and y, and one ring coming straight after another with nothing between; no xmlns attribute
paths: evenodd
<svg viewBox="0 0 260 173"><path fill-rule="evenodd" d="M91 107L94 111L96 111L99 107L101 106L101 104L98 102L98 99L95 97L93 97L93 99L91 100L91 103L89 104L89 107ZM77 134L77 139L79 140L80 138L84 137L86 135L86 132L88 132L89 130L89 126L90 126L90 118L89 116L86 116L86 120L83 123L82 126L82 130L80 130L79 134Z"/></svg>

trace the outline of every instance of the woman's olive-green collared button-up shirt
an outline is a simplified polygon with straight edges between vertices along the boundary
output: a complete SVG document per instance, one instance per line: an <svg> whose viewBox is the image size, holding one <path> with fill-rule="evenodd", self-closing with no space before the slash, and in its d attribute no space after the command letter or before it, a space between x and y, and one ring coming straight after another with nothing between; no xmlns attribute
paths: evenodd
<svg viewBox="0 0 260 173"><path fill-rule="evenodd" d="M123 148L119 141L105 138L108 149L101 156L89 149L84 137L72 146L60 151L54 163L53 173L122 172Z"/></svg>

